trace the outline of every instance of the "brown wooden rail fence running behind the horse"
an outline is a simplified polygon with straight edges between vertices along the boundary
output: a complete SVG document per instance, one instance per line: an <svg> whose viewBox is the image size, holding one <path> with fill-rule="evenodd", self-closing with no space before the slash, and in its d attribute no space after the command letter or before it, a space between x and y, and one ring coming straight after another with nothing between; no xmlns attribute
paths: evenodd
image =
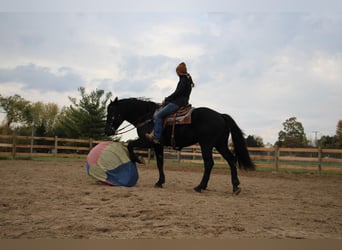
<svg viewBox="0 0 342 250"><path fill-rule="evenodd" d="M13 159L36 156L84 159L100 142L92 139L0 135L0 156ZM258 169L342 173L342 149L249 147L248 150ZM154 159L151 150L137 149L136 153L143 155L148 162ZM213 156L216 165L227 165L215 150ZM202 164L198 145L183 148L182 151L165 148L164 157L167 161L177 164Z"/></svg>

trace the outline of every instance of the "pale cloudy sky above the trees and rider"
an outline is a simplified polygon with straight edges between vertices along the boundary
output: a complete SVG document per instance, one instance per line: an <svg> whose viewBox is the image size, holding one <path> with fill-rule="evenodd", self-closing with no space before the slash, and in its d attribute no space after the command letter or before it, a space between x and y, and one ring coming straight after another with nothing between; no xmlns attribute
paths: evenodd
<svg viewBox="0 0 342 250"><path fill-rule="evenodd" d="M146 2L141 6L111 1L105 8L104 0L36 0L24 7L2 2L4 96L67 106L68 96L78 97L77 88L84 86L161 102L174 90L175 67L184 61L196 84L191 103L230 114L247 135L265 143L273 144L293 116L309 138L313 131L335 134L342 119L340 4L161 6L151 0L138 1Z"/></svg>

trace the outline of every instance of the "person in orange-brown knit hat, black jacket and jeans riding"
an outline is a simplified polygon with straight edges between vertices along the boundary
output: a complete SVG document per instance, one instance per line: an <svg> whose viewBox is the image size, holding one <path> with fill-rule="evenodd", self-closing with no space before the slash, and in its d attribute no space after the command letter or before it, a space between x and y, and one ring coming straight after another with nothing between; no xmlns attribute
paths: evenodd
<svg viewBox="0 0 342 250"><path fill-rule="evenodd" d="M188 105L191 90L195 86L190 74L187 72L184 62L177 66L176 73L179 76L177 88L171 95L164 99L162 108L156 111L153 116L154 129L150 134L146 134L146 137L156 144L160 143L162 136L163 118L176 112L179 108Z"/></svg>

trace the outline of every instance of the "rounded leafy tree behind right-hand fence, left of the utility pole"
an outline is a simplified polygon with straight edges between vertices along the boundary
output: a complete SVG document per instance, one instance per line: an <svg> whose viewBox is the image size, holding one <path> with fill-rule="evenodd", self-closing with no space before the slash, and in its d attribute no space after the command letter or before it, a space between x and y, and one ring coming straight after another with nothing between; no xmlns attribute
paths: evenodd
<svg viewBox="0 0 342 250"><path fill-rule="evenodd" d="M306 147L308 145L304 127L296 117L291 117L283 123L284 129L279 132L276 144L279 147Z"/></svg>

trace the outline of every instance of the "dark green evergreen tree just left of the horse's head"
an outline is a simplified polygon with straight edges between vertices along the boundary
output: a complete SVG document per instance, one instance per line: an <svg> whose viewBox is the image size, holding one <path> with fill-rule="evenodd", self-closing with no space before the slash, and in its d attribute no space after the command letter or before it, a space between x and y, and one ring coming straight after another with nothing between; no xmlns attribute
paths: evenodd
<svg viewBox="0 0 342 250"><path fill-rule="evenodd" d="M78 89L81 98L69 97L71 105L64 108L58 116L55 132L58 136L70 138L103 139L107 106L112 96L103 90L94 90L87 94L85 88Z"/></svg>

